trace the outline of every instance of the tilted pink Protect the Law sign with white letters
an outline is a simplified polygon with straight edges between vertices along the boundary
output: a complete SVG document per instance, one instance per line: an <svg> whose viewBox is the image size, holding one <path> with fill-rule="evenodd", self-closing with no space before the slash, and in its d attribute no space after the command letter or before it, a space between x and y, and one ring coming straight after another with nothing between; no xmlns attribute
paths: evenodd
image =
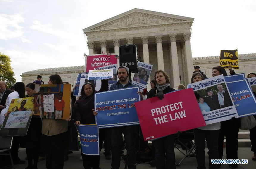
<svg viewBox="0 0 256 169"><path fill-rule="evenodd" d="M136 102L135 107L144 140L206 125L192 88Z"/></svg>

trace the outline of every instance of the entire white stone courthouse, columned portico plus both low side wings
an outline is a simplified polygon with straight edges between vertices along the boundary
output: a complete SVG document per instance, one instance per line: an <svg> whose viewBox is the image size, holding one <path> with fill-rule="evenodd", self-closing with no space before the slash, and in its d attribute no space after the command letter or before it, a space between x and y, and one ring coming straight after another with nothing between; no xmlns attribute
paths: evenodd
<svg viewBox="0 0 256 169"><path fill-rule="evenodd" d="M151 79L156 70L162 69L170 76L171 86L177 89L179 84L187 86L191 82L193 66L200 66L208 78L212 77L212 68L219 66L219 56L192 58L190 38L193 20L191 17L132 9L83 31L88 37L89 55L102 51L119 54L119 46L135 44L138 60L153 65ZM47 83L50 75L59 74L63 82L74 85L77 74L84 71L84 65L46 68L24 72L21 77L27 84L40 74ZM239 54L239 69L235 72L256 72L256 54ZM150 90L149 84L147 88Z"/></svg>

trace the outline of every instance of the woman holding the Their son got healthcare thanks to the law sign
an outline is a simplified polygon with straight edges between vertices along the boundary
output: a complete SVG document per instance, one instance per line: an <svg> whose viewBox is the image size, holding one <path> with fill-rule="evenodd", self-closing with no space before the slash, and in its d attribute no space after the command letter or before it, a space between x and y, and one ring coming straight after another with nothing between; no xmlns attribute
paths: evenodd
<svg viewBox="0 0 256 169"><path fill-rule="evenodd" d="M199 82L204 80L204 76L199 71L194 71L191 83ZM199 106L203 101L203 98L195 92L196 99L199 99ZM201 103L200 103L201 99ZM210 107L207 106L207 110ZM202 110L202 108L200 107ZM209 149L209 168L218 168L217 164L212 164L212 159L218 159L218 135L220 129L220 122L206 125L203 127L193 129L195 144L196 144L196 161L197 168L205 168L205 140L207 143L207 148Z"/></svg>

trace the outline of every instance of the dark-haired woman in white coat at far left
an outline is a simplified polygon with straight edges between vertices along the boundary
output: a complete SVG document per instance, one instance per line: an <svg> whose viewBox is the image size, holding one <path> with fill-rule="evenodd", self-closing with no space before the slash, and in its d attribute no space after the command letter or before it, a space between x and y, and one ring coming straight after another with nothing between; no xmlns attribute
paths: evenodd
<svg viewBox="0 0 256 169"><path fill-rule="evenodd" d="M6 107L1 111L1 115L3 114L4 117L9 115L7 114L7 111L9 109L12 99L24 98L24 97L25 97L25 85L23 82L17 82L16 84L14 84L14 91L10 93L7 97L6 104L5 104ZM0 124L2 123L3 121L0 122ZM12 155L14 164L25 163L25 161L21 160L18 157L18 149L19 149L20 142L21 142L20 136L13 136L12 148L10 150L10 153Z"/></svg>

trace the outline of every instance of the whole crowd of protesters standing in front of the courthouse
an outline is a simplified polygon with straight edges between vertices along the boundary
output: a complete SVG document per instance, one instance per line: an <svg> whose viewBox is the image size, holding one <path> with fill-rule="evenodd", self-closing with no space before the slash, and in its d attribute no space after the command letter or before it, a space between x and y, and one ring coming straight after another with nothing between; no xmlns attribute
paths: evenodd
<svg viewBox="0 0 256 169"><path fill-rule="evenodd" d="M199 66L195 66L195 71L192 74L191 83L204 80L206 75L199 71ZM230 74L235 74L235 71L229 67ZM227 76L224 68L217 66L212 69L212 76L223 74ZM129 68L120 66L117 70L118 81L115 82L110 90L135 87L129 80ZM247 78L255 77L255 73L248 74ZM139 76L138 76L139 77ZM33 97L35 94L35 84L44 84L41 76L38 80L25 84L17 82L14 86L7 89L7 84L0 81L0 125L6 117L12 99ZM137 78L137 75L134 77ZM49 77L48 84L64 84L61 77L57 74ZM76 125L95 124L95 117L98 113L94 110L94 94L108 90L108 80L102 80L102 85L99 91L91 83L82 85L82 90L79 98L72 98L70 117L65 120L51 118L36 118L32 117L26 136L13 136L12 148L10 150L14 164L24 164L25 161L18 157L19 147L26 148L26 159L28 166L26 169L36 169L37 163L46 158L47 169L61 169L64 166L64 161L68 160L68 122L74 119ZM170 84L169 76L166 72L158 70L154 73L154 80L150 81L151 90L149 92L138 92L141 95L141 100L158 97L160 100L164 98L164 94L174 91ZM190 85L188 85L190 87ZM221 87L220 87L221 88ZM184 85L179 85L178 90L185 89ZM25 96L26 91L26 96ZM216 98L221 95L226 95L223 90L219 90L219 95L213 95L212 90L207 90L207 97L202 98L196 95L199 106L202 109L215 110ZM254 93L255 94L255 93ZM223 98L223 97L222 97ZM225 98L225 97L224 97ZM40 99L39 99L40 101ZM204 103L207 103L206 105ZM225 100L219 102L219 108L224 106ZM201 105L200 105L201 104ZM72 113L73 112L73 113ZM73 116L72 116L73 114ZM51 116L51 115L50 115ZM72 116L72 117L71 117ZM255 115L254 115L255 117ZM220 168L220 164L212 164L211 159L222 159L223 157L223 141L226 136L226 153L227 159L238 159L238 131L240 127L240 119L232 118L223 122L217 122L204 127L193 129L193 135L196 147L197 168L205 168L205 140L209 149L209 168ZM120 156L123 148L123 136L126 145L126 163L129 169L136 168L136 145L135 145L135 130L136 126L112 127L107 129L99 129L99 150L102 149L104 142L104 154L106 159L111 159L112 154L112 169L120 167ZM141 131L141 129L140 129ZM141 133L141 132L140 132ZM156 165L157 169L174 169L176 168L174 154L174 138L177 134L171 134L163 138L152 141L152 165ZM250 129L250 138L252 143L252 152L255 159L256 151L256 127ZM192 140L191 140L192 143ZM147 143L146 143L147 144ZM85 155L81 151L83 166L85 169L99 169L100 156ZM154 164L153 164L154 163ZM230 168L237 168L237 164L229 164ZM7 157L1 158L0 168L12 168L10 160ZM109 166L110 168L110 166Z"/></svg>

